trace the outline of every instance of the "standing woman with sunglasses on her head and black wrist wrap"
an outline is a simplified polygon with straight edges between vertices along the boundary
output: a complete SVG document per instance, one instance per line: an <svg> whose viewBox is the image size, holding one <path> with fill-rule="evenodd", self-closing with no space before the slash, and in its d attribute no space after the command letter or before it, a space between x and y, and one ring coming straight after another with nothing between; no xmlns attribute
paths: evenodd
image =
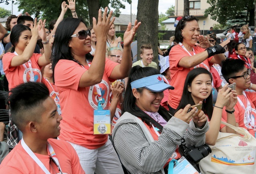
<svg viewBox="0 0 256 174"><path fill-rule="evenodd" d="M171 84L174 90L169 93L169 109L173 114L177 109L185 78L193 68L202 67L210 71L210 64L225 59L224 47L230 39L219 45L210 43L207 37L200 35L198 19L194 16L184 16L175 29L175 39L179 42L169 54ZM198 43L199 42L199 43Z"/></svg>

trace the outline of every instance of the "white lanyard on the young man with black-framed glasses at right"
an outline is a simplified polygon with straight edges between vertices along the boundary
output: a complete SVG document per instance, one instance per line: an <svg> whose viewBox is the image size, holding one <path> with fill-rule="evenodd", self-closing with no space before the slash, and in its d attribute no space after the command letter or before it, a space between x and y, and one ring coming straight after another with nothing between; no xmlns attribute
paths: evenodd
<svg viewBox="0 0 256 174"><path fill-rule="evenodd" d="M248 100L244 91L243 91L243 96L246 100L246 105L247 105L246 108L238 96L237 96L237 100L238 100L239 104L242 106L242 108L244 109L244 111L247 112L246 118L245 118L247 125L252 127L252 129L255 129L256 126L255 126L254 116L252 115L252 106L251 106L250 101ZM249 123L250 123L250 125L249 125Z"/></svg>

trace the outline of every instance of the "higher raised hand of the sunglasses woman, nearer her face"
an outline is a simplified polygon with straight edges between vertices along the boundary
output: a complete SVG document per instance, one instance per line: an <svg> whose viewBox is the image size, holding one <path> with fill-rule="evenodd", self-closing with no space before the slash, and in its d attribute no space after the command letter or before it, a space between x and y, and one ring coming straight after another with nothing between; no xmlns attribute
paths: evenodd
<svg viewBox="0 0 256 174"><path fill-rule="evenodd" d="M103 17L102 17L102 11L99 10L98 23L96 22L95 18L92 18L93 29L94 29L95 35L97 36L97 40L98 39L107 40L108 31L111 25L114 23L115 17L112 20L110 20L113 12L110 11L110 13L108 14L108 17L107 17L107 12L108 12L108 7L105 8Z"/></svg>

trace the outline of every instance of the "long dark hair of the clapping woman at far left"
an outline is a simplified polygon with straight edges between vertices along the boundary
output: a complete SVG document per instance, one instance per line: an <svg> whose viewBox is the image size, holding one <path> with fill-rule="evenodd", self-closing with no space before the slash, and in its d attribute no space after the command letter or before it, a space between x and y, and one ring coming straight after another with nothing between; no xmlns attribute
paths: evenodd
<svg viewBox="0 0 256 174"><path fill-rule="evenodd" d="M15 47L19 42L20 35L25 30L31 31L30 28L26 25L22 25L22 24L14 25L14 27L12 28L12 32L10 34L10 41L12 43L12 47L10 47L8 52L13 53L15 51Z"/></svg>

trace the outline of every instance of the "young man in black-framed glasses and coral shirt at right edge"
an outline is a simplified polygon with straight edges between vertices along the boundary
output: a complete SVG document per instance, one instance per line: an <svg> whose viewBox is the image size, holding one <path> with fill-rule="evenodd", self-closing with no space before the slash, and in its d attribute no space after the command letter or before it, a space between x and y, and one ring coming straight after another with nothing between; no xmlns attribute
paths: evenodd
<svg viewBox="0 0 256 174"><path fill-rule="evenodd" d="M256 91L256 85L250 81L251 69L246 68L246 63L241 59L226 59L222 61L222 75L229 84L236 83L237 103L233 110L222 111L222 118L233 120L237 127L244 127L253 136L256 134L256 92L244 91L252 89ZM227 117L227 113L232 117ZM230 114L229 114L230 115ZM230 122L231 123L231 122Z"/></svg>

